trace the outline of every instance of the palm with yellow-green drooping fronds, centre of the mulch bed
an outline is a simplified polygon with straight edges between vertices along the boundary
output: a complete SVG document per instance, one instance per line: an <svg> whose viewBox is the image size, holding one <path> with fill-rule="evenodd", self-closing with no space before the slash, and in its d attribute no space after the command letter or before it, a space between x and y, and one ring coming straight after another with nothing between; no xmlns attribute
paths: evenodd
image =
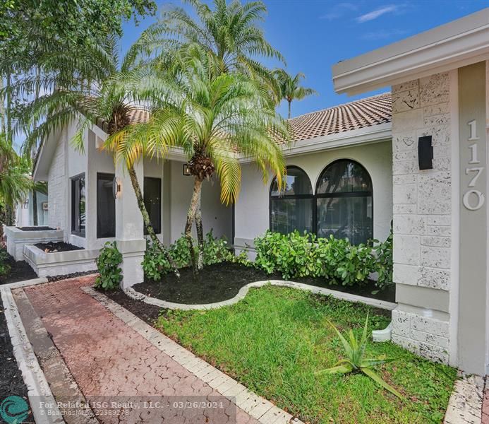
<svg viewBox="0 0 489 424"><path fill-rule="evenodd" d="M175 60L180 71L164 107L153 112L150 122L128 126L106 144L111 149L145 146L147 153L157 157L164 156L168 148L183 148L194 179L185 235L196 276L203 268L203 182L217 175L221 201L233 203L241 184L239 155L244 155L255 160L264 181L271 169L281 184L285 164L277 139L286 140L289 133L286 122L253 79L242 73L222 73L220 61L199 45L189 45ZM197 257L191 236L194 220Z"/></svg>

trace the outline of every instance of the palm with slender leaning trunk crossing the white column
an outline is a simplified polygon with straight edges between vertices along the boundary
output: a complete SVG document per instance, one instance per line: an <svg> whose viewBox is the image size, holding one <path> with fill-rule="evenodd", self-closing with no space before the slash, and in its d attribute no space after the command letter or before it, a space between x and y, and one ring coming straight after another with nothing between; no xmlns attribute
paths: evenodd
<svg viewBox="0 0 489 424"><path fill-rule="evenodd" d="M157 85L148 69L137 62L138 45L131 47L122 61L119 60L118 49L116 38L108 37L103 43L91 44L77 54L52 52L40 57L40 63L45 69L56 71L25 77L14 86L17 94L39 87L47 91L46 95L37 96L24 107L18 119L18 128L32 128L23 143L25 153L32 151L38 141L47 139L52 131L62 128L76 117L80 122L72 142L80 151L84 147L85 129L100 119L104 121L109 135L131 124L131 111L140 109L142 102L150 102L157 93ZM148 235L179 276L167 249L155 234L145 208L133 167L134 155L139 160L143 154L142 148L134 148L131 152L131 160L126 160L126 164L131 164L127 168L128 175Z"/></svg>

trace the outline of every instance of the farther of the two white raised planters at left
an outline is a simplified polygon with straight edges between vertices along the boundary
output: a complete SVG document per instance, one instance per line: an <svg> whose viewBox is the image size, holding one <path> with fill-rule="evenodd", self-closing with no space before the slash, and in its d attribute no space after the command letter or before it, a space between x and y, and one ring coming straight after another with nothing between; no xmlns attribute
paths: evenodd
<svg viewBox="0 0 489 424"><path fill-rule="evenodd" d="M46 227L40 227L46 228ZM4 232L7 238L7 252L16 261L24 260L24 246L35 245L36 243L62 242L64 238L63 230L31 230L24 231L17 227L5 227Z"/></svg>

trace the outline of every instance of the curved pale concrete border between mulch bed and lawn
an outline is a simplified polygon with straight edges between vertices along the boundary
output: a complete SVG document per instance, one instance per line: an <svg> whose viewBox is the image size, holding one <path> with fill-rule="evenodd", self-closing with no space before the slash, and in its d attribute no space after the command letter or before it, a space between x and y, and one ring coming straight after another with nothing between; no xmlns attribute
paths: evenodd
<svg viewBox="0 0 489 424"><path fill-rule="evenodd" d="M296 283L295 281L285 281L285 280L265 280L265 281L255 281L255 283L248 283L243 285L239 290L238 294L234 298L222 300L221 302L207 303L201 305L189 305L187 303L174 303L168 302L167 300L161 300L157 298L150 298L149 296L134 290L132 287L123 288L123 292L128 295L129 298L133 300L141 300L148 305L155 305L159 307L164 307L170 310L210 310L217 309L219 307L234 305L243 299L250 288L258 288L263 285L279 285L282 287L297 288L299 290L310 291L311 293L319 295L330 295L333 298L340 300L348 300L349 302L361 302L366 305L373 307L378 307L383 310L394 310L397 307L397 303L387 302L386 300L378 300L373 298L366 298L364 296L352 295L351 293L340 292L337 290L330 290L329 288L322 288L316 285L309 285L303 283Z"/></svg>

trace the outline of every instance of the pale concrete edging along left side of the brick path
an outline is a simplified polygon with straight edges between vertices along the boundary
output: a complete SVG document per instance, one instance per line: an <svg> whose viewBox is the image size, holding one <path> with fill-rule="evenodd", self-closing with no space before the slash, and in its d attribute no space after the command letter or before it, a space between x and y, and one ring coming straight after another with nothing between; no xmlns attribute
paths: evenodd
<svg viewBox="0 0 489 424"><path fill-rule="evenodd" d="M20 285L19 285L20 286ZM25 385L28 388L28 398L30 406L40 401L39 396L42 396L43 401L51 405L52 413L41 414L41 408L32 408L32 414L35 418L36 424L57 424L64 423L59 409L54 401L54 396L49 384L44 377L44 372L37 362L32 346L25 332L22 320L18 313L16 302L13 300L13 296L10 288L1 287L1 300L4 303L5 318L8 327L8 333L11 337L11 343L13 347L13 355L16 358L17 365L22 372L22 377Z"/></svg>

